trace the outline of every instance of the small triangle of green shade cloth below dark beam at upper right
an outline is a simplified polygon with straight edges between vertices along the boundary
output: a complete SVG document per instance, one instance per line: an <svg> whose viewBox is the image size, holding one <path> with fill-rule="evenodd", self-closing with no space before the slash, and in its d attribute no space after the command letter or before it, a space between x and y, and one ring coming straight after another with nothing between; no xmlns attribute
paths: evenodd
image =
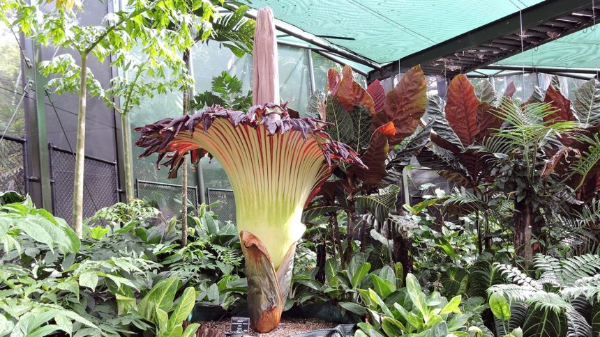
<svg viewBox="0 0 600 337"><path fill-rule="evenodd" d="M527 34L527 32L525 32ZM498 61L498 65L600 68L600 24L559 37L527 52Z"/></svg>

